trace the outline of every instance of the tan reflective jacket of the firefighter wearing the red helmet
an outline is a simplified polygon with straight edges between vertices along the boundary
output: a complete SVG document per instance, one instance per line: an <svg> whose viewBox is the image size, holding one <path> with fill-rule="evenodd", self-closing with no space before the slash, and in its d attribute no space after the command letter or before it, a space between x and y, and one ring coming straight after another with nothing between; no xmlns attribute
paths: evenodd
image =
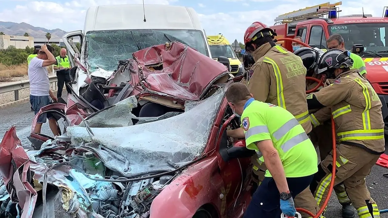
<svg viewBox="0 0 388 218"><path fill-rule="evenodd" d="M300 57L271 42L252 56L255 64L248 89L253 97L287 109L309 133L312 126L306 102L306 68Z"/></svg>

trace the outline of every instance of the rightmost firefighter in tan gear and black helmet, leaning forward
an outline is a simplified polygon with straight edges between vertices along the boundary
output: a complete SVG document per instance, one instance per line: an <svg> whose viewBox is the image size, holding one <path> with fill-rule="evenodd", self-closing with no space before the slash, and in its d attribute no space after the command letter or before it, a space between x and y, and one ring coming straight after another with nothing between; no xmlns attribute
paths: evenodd
<svg viewBox="0 0 388 218"><path fill-rule="evenodd" d="M350 70L350 52L332 49L322 55L317 73L325 74L326 87L307 96L309 109L331 107L339 144L334 185L343 183L360 218L376 218L379 209L365 185L365 177L385 151L381 102L358 69ZM330 119L330 115L327 116ZM328 155L310 185L319 206L327 197L333 156Z"/></svg>

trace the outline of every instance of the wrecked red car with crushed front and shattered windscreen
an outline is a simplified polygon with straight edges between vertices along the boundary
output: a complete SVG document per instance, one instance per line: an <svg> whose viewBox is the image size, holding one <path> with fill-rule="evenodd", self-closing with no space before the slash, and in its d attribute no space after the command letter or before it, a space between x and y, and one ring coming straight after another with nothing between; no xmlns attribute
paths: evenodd
<svg viewBox="0 0 388 218"><path fill-rule="evenodd" d="M254 151L226 135L240 121L225 66L171 43L135 52L107 82L42 108L66 125L39 150L6 132L0 217L242 217Z"/></svg>

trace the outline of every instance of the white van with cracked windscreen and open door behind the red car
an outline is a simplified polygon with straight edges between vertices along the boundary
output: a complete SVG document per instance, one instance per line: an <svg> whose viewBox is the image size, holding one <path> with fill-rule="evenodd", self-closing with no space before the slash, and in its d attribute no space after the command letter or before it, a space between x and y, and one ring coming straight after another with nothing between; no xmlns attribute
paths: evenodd
<svg viewBox="0 0 388 218"><path fill-rule="evenodd" d="M80 37L80 53L71 48L69 40L76 36ZM88 74L107 79L119 60L130 59L133 52L152 45L178 41L211 57L197 13L192 8L181 6L128 4L90 7L84 30L66 33L62 39L72 66L75 66L74 61L80 61L87 69L87 72L78 69L74 75L72 87L77 95L82 87L87 86L84 80Z"/></svg>

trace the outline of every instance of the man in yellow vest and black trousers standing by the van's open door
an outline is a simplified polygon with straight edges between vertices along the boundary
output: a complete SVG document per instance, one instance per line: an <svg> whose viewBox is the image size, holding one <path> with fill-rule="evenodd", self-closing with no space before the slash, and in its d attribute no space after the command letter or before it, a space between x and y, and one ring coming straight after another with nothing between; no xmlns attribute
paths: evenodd
<svg viewBox="0 0 388 218"><path fill-rule="evenodd" d="M59 56L55 57L57 59L57 65L54 66L54 70L61 70L57 71L57 78L58 78L58 92L57 92L57 98L62 97L62 90L63 86L67 83L70 83L70 76L69 76L69 69L70 69L70 61L68 55L66 55L66 48L61 48L61 52L59 53ZM71 92L70 88L66 86L66 91L68 94Z"/></svg>

